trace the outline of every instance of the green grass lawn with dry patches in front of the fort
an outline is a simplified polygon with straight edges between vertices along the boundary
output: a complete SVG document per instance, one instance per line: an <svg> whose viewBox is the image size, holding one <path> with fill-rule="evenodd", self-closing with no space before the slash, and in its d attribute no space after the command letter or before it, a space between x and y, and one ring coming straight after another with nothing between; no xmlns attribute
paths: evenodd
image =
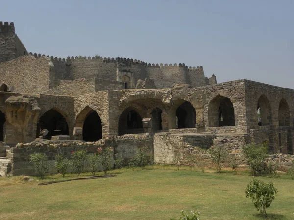
<svg viewBox="0 0 294 220"><path fill-rule="evenodd" d="M112 173L117 173L113 171ZM75 177L68 175L68 178ZM38 186L20 177L0 178L0 219L11 220L170 220L181 210L200 212L200 220L264 219L245 188L248 172L201 173L182 168L123 170L117 177ZM294 220L294 180L258 177L278 189L267 210L270 219Z"/></svg>

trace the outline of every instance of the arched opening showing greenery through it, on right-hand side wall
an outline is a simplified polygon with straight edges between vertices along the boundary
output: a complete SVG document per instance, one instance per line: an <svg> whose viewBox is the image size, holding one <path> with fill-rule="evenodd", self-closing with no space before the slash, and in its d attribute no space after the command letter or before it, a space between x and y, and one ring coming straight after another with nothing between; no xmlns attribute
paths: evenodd
<svg viewBox="0 0 294 220"><path fill-rule="evenodd" d="M271 124L271 107L270 101L265 95L261 95L257 101L257 120L258 125Z"/></svg>

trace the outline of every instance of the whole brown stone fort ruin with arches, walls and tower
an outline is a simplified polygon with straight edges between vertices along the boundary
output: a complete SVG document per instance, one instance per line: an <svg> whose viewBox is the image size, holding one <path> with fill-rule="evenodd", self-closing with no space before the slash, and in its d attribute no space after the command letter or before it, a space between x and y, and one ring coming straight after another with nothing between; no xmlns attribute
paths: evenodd
<svg viewBox="0 0 294 220"><path fill-rule="evenodd" d="M245 79L218 84L202 66L32 54L14 24L0 22L0 83L2 175L33 173L32 152L53 164L58 152L98 146L125 159L146 146L167 163L175 152L212 145L238 156L251 141L268 142L273 154L294 152L294 90Z"/></svg>

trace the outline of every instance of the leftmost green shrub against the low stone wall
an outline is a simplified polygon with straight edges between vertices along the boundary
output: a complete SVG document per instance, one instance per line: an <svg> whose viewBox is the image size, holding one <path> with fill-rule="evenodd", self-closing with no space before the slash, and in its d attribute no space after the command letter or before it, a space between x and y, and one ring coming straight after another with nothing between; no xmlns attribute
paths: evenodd
<svg viewBox="0 0 294 220"><path fill-rule="evenodd" d="M34 164L39 176L43 179L49 169L48 158L44 153L30 154L30 162Z"/></svg>

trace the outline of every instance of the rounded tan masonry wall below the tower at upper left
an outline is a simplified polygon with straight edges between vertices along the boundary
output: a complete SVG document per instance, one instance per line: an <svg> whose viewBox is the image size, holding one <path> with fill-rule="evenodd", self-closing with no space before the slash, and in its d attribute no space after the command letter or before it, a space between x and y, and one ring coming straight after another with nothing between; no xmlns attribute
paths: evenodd
<svg viewBox="0 0 294 220"><path fill-rule="evenodd" d="M15 87L15 92L34 93L53 87L54 66L46 57L21 56L0 63L0 81Z"/></svg>

